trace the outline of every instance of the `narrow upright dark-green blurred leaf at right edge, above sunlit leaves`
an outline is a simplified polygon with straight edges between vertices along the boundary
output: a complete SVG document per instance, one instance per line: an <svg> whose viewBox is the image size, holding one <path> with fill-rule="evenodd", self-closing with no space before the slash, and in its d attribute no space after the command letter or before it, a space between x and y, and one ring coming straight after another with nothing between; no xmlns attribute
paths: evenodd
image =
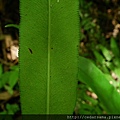
<svg viewBox="0 0 120 120"><path fill-rule="evenodd" d="M118 48L116 40L113 37L110 39L110 46L111 46L111 50L112 50L113 54L116 57L120 57L120 50Z"/></svg>

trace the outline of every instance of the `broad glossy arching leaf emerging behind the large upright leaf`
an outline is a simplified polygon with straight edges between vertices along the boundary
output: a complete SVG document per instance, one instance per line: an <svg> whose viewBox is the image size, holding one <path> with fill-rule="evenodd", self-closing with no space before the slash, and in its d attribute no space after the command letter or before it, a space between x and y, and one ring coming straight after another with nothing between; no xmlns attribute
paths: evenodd
<svg viewBox="0 0 120 120"><path fill-rule="evenodd" d="M108 113L120 113L119 93L109 83L105 75L90 60L84 57L79 57L78 79L93 89Z"/></svg>

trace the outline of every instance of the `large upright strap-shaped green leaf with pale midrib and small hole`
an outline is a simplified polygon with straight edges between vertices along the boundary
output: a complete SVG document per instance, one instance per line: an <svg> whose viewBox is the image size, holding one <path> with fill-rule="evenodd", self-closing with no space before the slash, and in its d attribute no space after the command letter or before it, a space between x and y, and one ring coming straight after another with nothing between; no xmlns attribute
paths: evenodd
<svg viewBox="0 0 120 120"><path fill-rule="evenodd" d="M78 0L20 1L23 114L72 114L76 100Z"/></svg>

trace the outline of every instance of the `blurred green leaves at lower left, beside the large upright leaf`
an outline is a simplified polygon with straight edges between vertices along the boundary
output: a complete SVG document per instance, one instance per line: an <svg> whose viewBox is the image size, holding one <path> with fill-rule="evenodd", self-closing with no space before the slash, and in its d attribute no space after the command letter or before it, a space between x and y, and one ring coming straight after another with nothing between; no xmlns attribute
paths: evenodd
<svg viewBox="0 0 120 120"><path fill-rule="evenodd" d="M13 95L13 91L16 90L16 86L18 84L18 74L19 74L19 67L18 65L12 66L10 71L3 72L2 65L0 66L0 91L3 90L8 91L11 96ZM5 115L12 114L14 115L19 110L19 106L17 104L6 104L6 111L0 112L0 115L3 117L3 120L7 120L8 118L12 120L11 117L7 117Z"/></svg>

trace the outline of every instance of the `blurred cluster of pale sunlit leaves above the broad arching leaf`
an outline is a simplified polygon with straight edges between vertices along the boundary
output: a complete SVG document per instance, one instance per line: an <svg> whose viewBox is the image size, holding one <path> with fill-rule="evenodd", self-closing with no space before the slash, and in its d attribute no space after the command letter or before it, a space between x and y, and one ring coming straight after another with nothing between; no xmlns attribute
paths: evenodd
<svg viewBox="0 0 120 120"><path fill-rule="evenodd" d="M113 84L117 90L120 90L120 60L119 60L119 48L116 43L116 39L110 39L110 49L103 47L102 45L98 45L98 48L95 53L96 64L100 65L100 69L104 72L108 80ZM102 51L103 55L100 54ZM97 53L97 54L96 54ZM99 56L98 56L99 54ZM104 65L104 67L103 67ZM113 76L113 77L112 77ZM114 79L117 79L115 81Z"/></svg>

